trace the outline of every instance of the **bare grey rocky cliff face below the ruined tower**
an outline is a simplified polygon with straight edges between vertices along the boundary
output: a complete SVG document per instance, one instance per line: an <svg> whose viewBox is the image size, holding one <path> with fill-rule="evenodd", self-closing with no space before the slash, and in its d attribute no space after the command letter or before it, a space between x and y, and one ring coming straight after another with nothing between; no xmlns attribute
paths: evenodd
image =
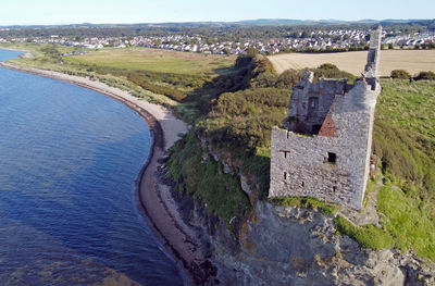
<svg viewBox="0 0 435 286"><path fill-rule="evenodd" d="M412 253L362 249L337 234L333 219L258 202L236 238L195 203L189 222L221 285L435 285L434 271Z"/></svg>

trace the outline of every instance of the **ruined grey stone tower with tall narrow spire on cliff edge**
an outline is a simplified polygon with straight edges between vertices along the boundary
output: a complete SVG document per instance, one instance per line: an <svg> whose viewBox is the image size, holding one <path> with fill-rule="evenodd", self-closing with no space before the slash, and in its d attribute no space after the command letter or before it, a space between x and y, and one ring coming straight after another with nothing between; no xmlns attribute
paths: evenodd
<svg viewBox="0 0 435 286"><path fill-rule="evenodd" d="M353 85L313 73L293 87L286 129L273 127L269 197L308 196L361 210L370 171L374 110L381 92L381 27Z"/></svg>

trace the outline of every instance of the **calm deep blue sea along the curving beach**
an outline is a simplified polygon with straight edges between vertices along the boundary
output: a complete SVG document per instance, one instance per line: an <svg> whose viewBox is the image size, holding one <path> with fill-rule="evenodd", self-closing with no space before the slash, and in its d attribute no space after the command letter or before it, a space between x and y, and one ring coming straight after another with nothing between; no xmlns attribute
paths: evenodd
<svg viewBox="0 0 435 286"><path fill-rule="evenodd" d="M150 142L115 100L0 69L0 284L183 285L136 209Z"/></svg>

